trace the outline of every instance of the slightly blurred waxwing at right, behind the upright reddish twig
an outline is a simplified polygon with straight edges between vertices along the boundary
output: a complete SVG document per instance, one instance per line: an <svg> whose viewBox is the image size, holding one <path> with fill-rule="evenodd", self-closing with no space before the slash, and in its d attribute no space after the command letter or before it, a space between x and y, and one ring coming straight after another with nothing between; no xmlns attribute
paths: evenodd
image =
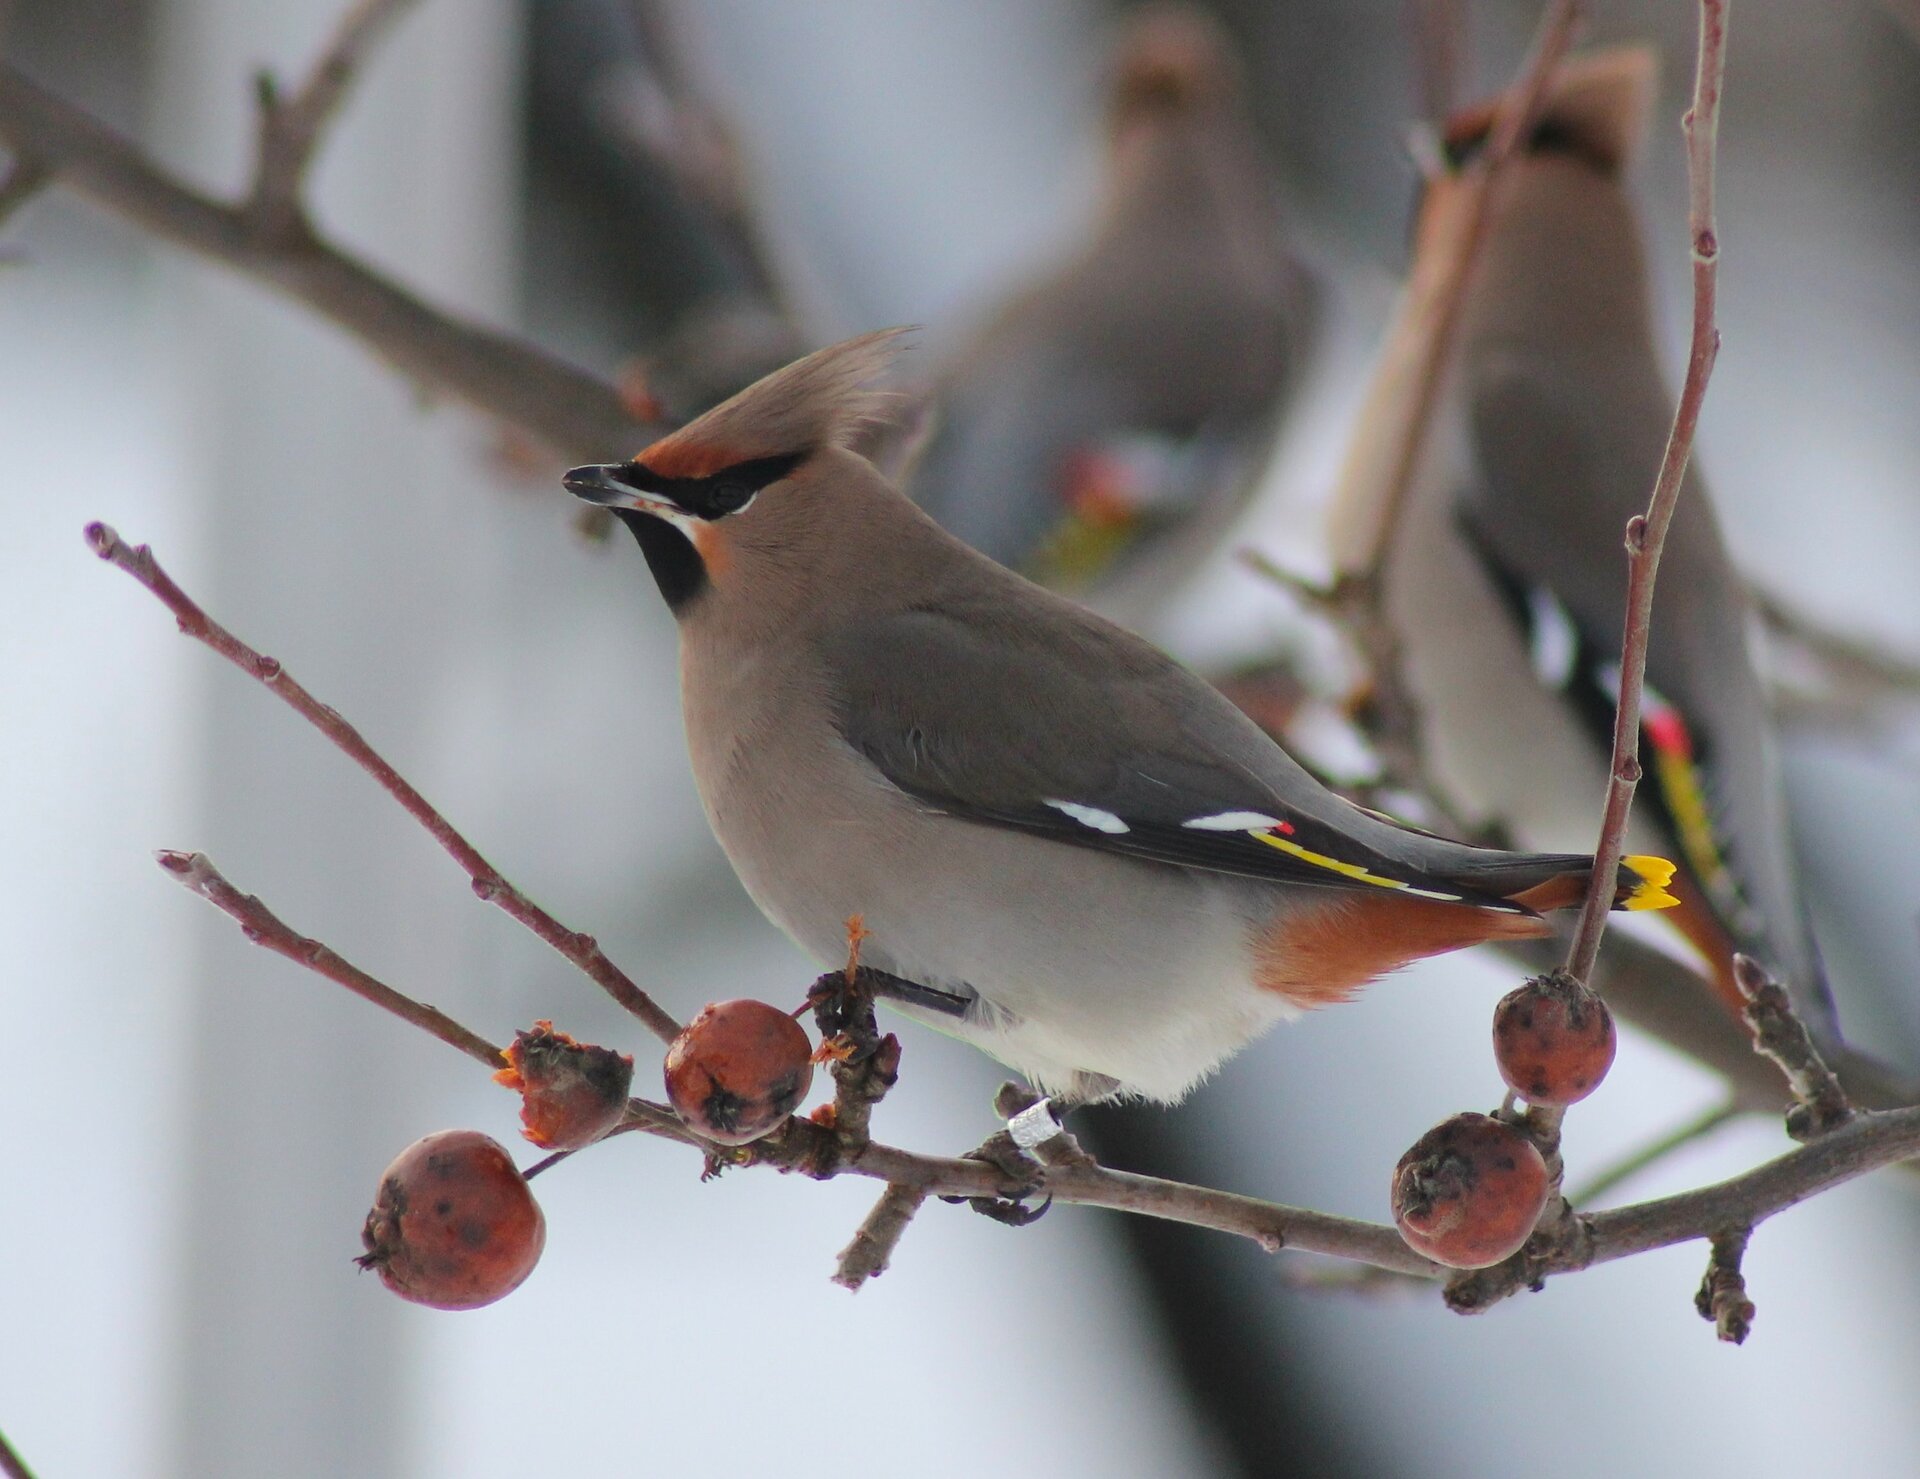
<svg viewBox="0 0 1920 1479"><path fill-rule="evenodd" d="M1674 407L1622 184L1653 85L1645 48L1561 69L1496 182L1425 465L1390 526L1356 486L1334 507L1334 565L1379 561L1430 780L1453 814L1528 847L1592 837L1599 816L1622 530L1647 505ZM1484 144L1490 121L1490 106L1461 113L1453 158ZM1428 186L1417 255L1442 238L1436 221L1459 190L1446 177ZM1680 861L1665 920L1728 1008L1741 1005L1738 949L1780 974L1836 1043L1747 640L1747 590L1688 473L1659 570L1630 845ZM1726 1045L1751 1064L1743 1030Z"/></svg>

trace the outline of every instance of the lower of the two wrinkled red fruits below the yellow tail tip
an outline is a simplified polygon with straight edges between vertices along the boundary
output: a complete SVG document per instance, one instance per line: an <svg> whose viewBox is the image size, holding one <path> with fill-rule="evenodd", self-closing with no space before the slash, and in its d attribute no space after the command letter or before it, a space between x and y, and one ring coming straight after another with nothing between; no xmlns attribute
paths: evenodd
<svg viewBox="0 0 1920 1479"><path fill-rule="evenodd" d="M1517 1252L1546 1204L1540 1152L1486 1114L1434 1126L1394 1166L1400 1235L1448 1268L1488 1268Z"/></svg>

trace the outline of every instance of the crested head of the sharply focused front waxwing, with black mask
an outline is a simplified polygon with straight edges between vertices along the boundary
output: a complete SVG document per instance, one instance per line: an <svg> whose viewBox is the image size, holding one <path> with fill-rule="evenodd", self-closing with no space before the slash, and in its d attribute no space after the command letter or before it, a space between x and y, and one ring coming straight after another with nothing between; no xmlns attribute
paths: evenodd
<svg viewBox="0 0 1920 1479"><path fill-rule="evenodd" d="M828 346L634 459L576 467L563 482L634 532L666 605L685 617L743 567L793 557L799 534L829 519L820 507L828 490L810 474L889 415L895 398L870 382L906 332L883 328Z"/></svg>

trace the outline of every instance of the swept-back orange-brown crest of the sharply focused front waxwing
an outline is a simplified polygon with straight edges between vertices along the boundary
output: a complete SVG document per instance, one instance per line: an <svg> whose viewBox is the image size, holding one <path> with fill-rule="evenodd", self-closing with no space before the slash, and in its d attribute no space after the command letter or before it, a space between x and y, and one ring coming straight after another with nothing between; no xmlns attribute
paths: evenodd
<svg viewBox="0 0 1920 1479"><path fill-rule="evenodd" d="M755 380L732 400L662 436L634 461L664 478L705 478L760 457L851 446L893 415L897 394L872 390L910 328L879 328L829 344Z"/></svg>

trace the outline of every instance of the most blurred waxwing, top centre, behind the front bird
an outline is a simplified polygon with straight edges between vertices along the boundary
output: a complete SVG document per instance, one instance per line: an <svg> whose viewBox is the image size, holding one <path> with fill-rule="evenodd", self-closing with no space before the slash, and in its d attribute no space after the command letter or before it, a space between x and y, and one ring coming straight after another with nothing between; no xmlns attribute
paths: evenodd
<svg viewBox="0 0 1920 1479"><path fill-rule="evenodd" d="M937 376L906 486L975 549L1140 617L1254 484L1309 292L1208 15L1156 6L1127 27L1106 127L1091 238Z"/></svg>

